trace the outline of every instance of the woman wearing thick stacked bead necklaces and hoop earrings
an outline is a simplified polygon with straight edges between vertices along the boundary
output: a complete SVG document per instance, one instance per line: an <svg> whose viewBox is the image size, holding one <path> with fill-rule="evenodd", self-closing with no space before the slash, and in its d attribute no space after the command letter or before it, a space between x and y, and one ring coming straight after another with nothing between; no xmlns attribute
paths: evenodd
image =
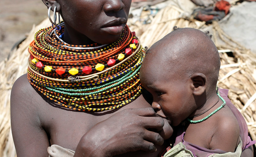
<svg viewBox="0 0 256 157"><path fill-rule="evenodd" d="M142 96L144 50L126 26L131 0L42 1L64 24L55 16L39 30L28 74L12 88L17 156L157 156L172 130Z"/></svg>

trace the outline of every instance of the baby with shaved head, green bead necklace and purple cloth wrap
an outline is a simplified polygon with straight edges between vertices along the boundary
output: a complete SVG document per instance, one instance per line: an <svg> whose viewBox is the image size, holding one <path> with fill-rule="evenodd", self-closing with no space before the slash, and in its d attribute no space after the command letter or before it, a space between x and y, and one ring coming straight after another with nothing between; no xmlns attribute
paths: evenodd
<svg viewBox="0 0 256 157"><path fill-rule="evenodd" d="M219 67L210 36L193 28L174 27L146 52L142 86L152 94L156 113L176 130L165 157L240 157L255 143L227 91L216 91Z"/></svg>

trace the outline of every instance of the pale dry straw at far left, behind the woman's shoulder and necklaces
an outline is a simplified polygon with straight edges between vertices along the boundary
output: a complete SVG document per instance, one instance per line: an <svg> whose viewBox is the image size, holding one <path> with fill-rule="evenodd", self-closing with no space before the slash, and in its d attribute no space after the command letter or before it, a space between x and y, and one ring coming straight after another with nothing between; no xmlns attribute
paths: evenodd
<svg viewBox="0 0 256 157"><path fill-rule="evenodd" d="M28 45L34 34L43 27L50 26L49 19L34 26L27 39L11 52L9 58L0 63L0 157L15 157L16 151L11 135L10 95L15 80L27 72Z"/></svg>

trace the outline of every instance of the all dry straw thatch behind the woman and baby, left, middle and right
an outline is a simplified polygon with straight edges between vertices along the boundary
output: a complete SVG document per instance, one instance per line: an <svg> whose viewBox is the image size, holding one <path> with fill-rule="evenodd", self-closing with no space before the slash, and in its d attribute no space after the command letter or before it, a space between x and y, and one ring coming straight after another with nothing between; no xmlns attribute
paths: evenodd
<svg viewBox="0 0 256 157"><path fill-rule="evenodd" d="M183 18L184 11L175 6L167 6L153 18L148 25L131 25L130 29L139 32L144 46L150 47L155 41L168 34L176 25L178 27L193 27L200 29L205 23ZM164 16L165 15L165 16ZM26 73L27 46L32 41L34 33L42 27L49 26L48 19L34 27L23 43L14 50L9 59L0 63L0 156L14 157L15 148L10 130L10 93L14 81ZM229 98L241 111L247 121L249 133L253 140L256 139L256 60L255 55L249 50L235 43L213 23L213 41L221 51L222 67L219 73L218 86L229 89ZM219 42L221 41L221 42ZM220 44L224 43L224 44ZM226 53L228 52L228 53Z"/></svg>

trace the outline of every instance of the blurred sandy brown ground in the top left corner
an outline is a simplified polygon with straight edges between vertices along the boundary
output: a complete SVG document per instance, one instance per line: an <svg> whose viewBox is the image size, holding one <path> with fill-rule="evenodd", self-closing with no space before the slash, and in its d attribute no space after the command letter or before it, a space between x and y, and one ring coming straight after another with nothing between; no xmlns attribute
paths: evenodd
<svg viewBox="0 0 256 157"><path fill-rule="evenodd" d="M0 61L44 18L47 7L41 0L0 0Z"/></svg>

